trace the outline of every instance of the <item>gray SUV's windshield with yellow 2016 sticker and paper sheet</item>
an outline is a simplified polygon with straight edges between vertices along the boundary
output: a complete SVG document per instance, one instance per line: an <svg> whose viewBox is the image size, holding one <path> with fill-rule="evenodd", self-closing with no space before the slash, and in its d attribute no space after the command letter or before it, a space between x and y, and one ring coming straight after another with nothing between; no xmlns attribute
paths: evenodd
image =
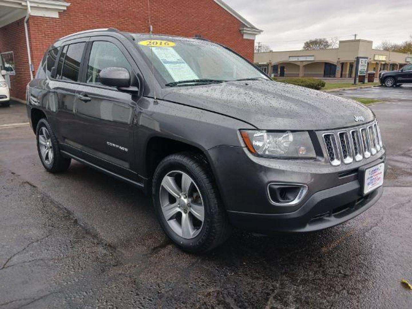
<svg viewBox="0 0 412 309"><path fill-rule="evenodd" d="M250 63L215 43L181 37L134 37L138 49L166 86L267 79Z"/></svg>

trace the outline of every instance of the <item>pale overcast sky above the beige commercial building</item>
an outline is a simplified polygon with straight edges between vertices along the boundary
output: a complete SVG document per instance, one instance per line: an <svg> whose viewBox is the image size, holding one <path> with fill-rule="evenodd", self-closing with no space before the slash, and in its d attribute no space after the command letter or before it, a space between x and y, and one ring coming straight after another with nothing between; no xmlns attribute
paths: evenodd
<svg viewBox="0 0 412 309"><path fill-rule="evenodd" d="M412 35L412 0L224 0L273 50L302 49L317 37L402 42ZM293 42L290 42L293 41Z"/></svg>

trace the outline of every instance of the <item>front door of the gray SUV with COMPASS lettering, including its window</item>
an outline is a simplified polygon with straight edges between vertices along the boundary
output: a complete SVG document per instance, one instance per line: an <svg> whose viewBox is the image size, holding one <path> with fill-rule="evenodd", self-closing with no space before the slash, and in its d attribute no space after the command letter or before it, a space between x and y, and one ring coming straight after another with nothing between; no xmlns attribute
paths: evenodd
<svg viewBox="0 0 412 309"><path fill-rule="evenodd" d="M126 68L131 76L136 76L133 63L117 39L91 37L75 103L79 134L73 140L87 160L130 178L136 176L131 171L134 156L132 120L138 95L104 86L99 73L104 68L118 67Z"/></svg>

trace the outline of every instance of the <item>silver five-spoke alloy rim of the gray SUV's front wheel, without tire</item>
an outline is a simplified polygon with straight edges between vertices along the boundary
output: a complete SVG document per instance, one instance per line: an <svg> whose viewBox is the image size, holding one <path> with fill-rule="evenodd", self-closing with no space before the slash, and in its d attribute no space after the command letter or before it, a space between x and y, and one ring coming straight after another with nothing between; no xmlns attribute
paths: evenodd
<svg viewBox="0 0 412 309"><path fill-rule="evenodd" d="M160 205L169 227L185 239L196 237L205 220L204 203L193 179L182 171L171 171L160 186Z"/></svg>

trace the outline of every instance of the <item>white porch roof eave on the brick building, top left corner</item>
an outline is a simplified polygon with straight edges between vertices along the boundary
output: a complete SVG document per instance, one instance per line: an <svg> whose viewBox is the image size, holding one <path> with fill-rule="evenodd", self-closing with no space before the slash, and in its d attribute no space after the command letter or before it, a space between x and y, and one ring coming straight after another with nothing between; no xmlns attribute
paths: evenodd
<svg viewBox="0 0 412 309"><path fill-rule="evenodd" d="M63 0L30 0L32 16L59 18L70 3ZM0 0L0 27L25 17L27 14L27 1L25 0Z"/></svg>

